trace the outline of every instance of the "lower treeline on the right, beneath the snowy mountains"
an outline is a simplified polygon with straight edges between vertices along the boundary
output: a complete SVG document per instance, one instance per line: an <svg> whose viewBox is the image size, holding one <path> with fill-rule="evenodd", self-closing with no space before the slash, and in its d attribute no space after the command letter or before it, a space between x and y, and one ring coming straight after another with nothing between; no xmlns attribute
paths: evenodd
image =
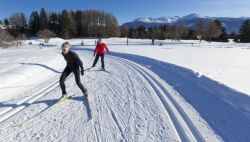
<svg viewBox="0 0 250 142"><path fill-rule="evenodd" d="M172 39L179 41L181 39L207 40L217 42L228 42L228 39L234 39L235 42L250 42L250 22L246 20L238 34L235 32L227 34L226 28L219 20L210 20L204 23L199 20L194 29L187 28L184 24L162 25L159 27L138 28L120 27L121 37L129 38L149 38L149 39Z"/></svg>

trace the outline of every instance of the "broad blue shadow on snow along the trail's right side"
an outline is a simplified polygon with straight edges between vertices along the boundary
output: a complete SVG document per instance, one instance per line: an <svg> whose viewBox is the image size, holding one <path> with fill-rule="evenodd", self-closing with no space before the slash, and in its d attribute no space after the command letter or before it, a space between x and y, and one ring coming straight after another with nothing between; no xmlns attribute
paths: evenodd
<svg viewBox="0 0 250 142"><path fill-rule="evenodd" d="M93 49L74 48L93 51ZM170 84L206 120L224 141L250 141L250 97L194 71L159 60L124 54L128 59L156 73Z"/></svg>

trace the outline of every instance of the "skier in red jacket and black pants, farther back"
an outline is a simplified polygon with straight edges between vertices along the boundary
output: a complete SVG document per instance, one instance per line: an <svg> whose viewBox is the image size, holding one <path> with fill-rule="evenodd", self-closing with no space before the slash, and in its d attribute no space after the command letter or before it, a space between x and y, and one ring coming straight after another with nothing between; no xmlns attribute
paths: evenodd
<svg viewBox="0 0 250 142"><path fill-rule="evenodd" d="M102 42L101 39L99 39L97 41L97 44L96 44L96 47L95 47L95 50L94 50L94 55L93 56L95 56L95 60L94 60L94 63L92 65L92 67L95 67L99 57L101 56L102 69L105 70L105 65L104 65L104 53L105 53L105 50L107 50L108 53L109 53L109 49L108 49L107 45L104 42Z"/></svg>

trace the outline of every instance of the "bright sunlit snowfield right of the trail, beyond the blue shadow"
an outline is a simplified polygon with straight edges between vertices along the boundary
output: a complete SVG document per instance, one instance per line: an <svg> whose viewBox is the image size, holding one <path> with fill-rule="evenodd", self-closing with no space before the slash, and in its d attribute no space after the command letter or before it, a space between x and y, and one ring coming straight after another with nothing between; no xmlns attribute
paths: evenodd
<svg viewBox="0 0 250 142"><path fill-rule="evenodd" d="M105 41L105 40L104 40ZM126 39L108 39L107 43L126 44ZM110 45L112 51L145 56L191 69L198 76L206 76L226 86L250 95L250 44L207 43L198 41L129 40L143 46ZM159 46L163 43L163 46ZM192 45L192 43L194 43Z"/></svg>

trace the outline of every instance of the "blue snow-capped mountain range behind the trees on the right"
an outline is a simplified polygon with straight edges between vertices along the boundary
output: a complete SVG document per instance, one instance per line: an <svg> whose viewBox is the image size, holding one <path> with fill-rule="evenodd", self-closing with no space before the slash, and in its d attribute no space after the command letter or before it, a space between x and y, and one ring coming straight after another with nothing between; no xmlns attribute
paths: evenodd
<svg viewBox="0 0 250 142"><path fill-rule="evenodd" d="M189 28L195 28L196 23L199 20L207 23L210 20L218 19L225 26L228 33L238 32L241 24L250 17L239 17L239 18L230 18L230 17L208 17L201 16L198 14L189 14L183 17L174 16L174 17L161 17L161 18L137 18L132 22L127 22L122 26L137 28L138 26L145 26L147 28L160 26L163 24L184 24Z"/></svg>

